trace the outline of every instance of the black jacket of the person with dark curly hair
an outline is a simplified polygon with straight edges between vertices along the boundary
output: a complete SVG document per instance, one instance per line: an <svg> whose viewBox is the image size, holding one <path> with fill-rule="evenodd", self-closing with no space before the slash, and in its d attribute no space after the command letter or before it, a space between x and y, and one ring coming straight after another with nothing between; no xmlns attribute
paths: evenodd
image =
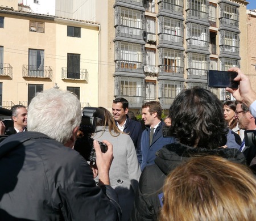
<svg viewBox="0 0 256 221"><path fill-rule="evenodd" d="M157 153L155 164L144 168L135 194L135 202L130 220L158 220L160 208L159 194L168 173L195 155L217 155L232 162L245 164L243 154L234 148L195 148L180 143L164 146Z"/></svg>

